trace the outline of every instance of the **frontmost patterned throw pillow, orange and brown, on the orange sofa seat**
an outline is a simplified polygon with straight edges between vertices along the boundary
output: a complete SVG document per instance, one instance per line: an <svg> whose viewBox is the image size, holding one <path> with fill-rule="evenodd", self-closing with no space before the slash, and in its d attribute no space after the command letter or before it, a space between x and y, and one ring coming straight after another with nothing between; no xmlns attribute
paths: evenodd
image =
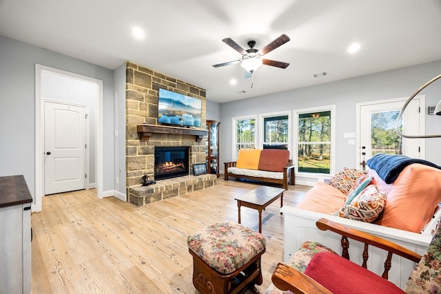
<svg viewBox="0 0 441 294"><path fill-rule="evenodd" d="M369 185L356 198L353 198L351 204L338 209L334 216L373 222L383 212L385 205L386 196L378 192L374 185Z"/></svg>

